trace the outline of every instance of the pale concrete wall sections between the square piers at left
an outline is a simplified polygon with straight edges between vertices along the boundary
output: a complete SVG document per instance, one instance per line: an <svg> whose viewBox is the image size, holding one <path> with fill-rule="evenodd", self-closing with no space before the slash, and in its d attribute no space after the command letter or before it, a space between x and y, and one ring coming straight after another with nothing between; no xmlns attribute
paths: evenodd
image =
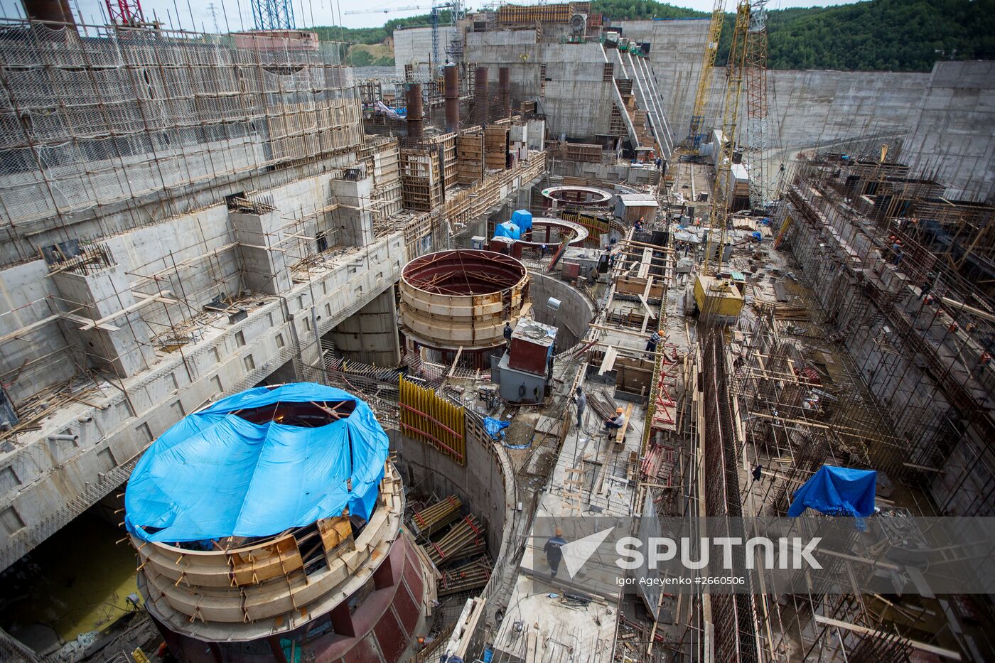
<svg viewBox="0 0 995 663"><path fill-rule="evenodd" d="M332 183L329 175L309 177L275 187L272 198L283 209L313 209L327 203ZM303 222L303 233L313 236L313 224L313 220ZM229 210L220 204L113 235L101 243L127 275L133 290L147 295L169 291L171 299L177 300L176 304L148 306L142 311L143 324L160 333L198 314L213 300L256 290L245 278L246 264L235 235ZM281 245L286 260L296 262L307 255L307 247L299 246L299 241ZM0 301L12 312L0 316L0 335L84 304L66 301L48 273L44 260L0 270ZM290 284L289 276L284 284ZM68 379L67 372L77 366L86 366L87 357L74 351L72 340L58 325L48 325L6 341L0 369L8 373L10 399L19 401Z"/></svg>

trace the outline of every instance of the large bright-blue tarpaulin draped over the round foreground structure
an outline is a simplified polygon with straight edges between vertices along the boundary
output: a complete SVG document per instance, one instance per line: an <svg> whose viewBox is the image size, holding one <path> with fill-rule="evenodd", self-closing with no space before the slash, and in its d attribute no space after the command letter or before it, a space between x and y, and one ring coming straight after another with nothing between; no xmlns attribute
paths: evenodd
<svg viewBox="0 0 995 663"><path fill-rule="evenodd" d="M317 428L234 414L343 400L355 402L352 413ZM128 481L124 523L145 541L183 542L266 537L345 507L368 520L387 449L373 410L347 391L309 382L256 387L184 417L152 443Z"/></svg>

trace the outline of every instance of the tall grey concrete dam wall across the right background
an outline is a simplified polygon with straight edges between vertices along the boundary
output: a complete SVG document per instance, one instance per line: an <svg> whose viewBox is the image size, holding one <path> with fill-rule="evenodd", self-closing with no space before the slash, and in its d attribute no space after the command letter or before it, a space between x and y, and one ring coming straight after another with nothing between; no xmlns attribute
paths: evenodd
<svg viewBox="0 0 995 663"><path fill-rule="evenodd" d="M707 19L614 21L650 43L650 64L674 138L688 133L701 72ZM776 39L776 36L775 36ZM590 68L592 75L598 67ZM861 138L902 143L899 158L932 172L952 197L995 199L995 63L940 62L931 73L768 73L768 146L786 159L803 149ZM721 122L725 70L712 72L705 122ZM745 102L740 103L743 116ZM578 134L592 124L573 124ZM745 127L740 118L740 130Z"/></svg>

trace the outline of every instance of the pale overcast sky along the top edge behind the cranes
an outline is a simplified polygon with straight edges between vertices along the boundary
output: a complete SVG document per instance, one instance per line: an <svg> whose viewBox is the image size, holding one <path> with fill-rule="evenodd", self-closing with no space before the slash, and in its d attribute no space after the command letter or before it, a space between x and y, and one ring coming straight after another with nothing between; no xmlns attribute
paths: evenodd
<svg viewBox="0 0 995 663"><path fill-rule="evenodd" d="M112 0L115 1L116 0ZM769 9L785 7L825 7L829 5L849 4L853 0L771 0ZM348 28L364 28L383 25L391 18L404 18L425 14L432 7L431 0L291 0L294 4L294 15L298 27L315 25L344 25ZM471 8L477 8L482 3L471 3ZM522 0L518 4L527 4ZM679 0L672 4L679 7L689 7L700 11L710 11L712 0ZM106 23L106 6L103 0L70 0L77 20L102 25ZM726 11L735 6L735 0L725 0ZM218 30L251 29L252 9L250 0L142 0L145 17L151 19L153 14L167 27L182 27L186 30L215 31L215 20ZM209 9L214 8L214 12ZM383 12L392 7L418 7L406 11ZM379 10L371 12L370 10ZM361 11L360 14L348 14L349 11ZM341 12L341 23L338 17ZM20 0L0 0L0 15L5 17L21 17L24 11ZM227 18L227 22L226 22Z"/></svg>

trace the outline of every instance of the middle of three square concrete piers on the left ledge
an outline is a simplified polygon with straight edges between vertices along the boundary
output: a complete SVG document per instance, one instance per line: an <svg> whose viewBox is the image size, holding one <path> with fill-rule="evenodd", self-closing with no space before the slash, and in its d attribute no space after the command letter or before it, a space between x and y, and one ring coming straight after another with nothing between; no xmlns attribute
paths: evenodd
<svg viewBox="0 0 995 663"><path fill-rule="evenodd" d="M246 290L280 295L291 289L291 271L282 246L283 219L278 212L247 214L229 212L235 240L242 256L242 279Z"/></svg>

